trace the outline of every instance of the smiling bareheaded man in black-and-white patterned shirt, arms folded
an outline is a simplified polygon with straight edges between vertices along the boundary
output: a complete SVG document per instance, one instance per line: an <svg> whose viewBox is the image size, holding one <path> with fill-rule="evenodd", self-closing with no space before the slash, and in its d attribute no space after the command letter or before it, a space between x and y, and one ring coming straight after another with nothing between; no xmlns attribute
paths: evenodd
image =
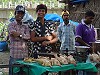
<svg viewBox="0 0 100 75"><path fill-rule="evenodd" d="M57 35L53 29L53 24L47 21L44 16L47 13L46 5L40 4L36 8L37 19L31 27L31 41L33 42L33 51L50 52L50 44L57 41Z"/></svg>

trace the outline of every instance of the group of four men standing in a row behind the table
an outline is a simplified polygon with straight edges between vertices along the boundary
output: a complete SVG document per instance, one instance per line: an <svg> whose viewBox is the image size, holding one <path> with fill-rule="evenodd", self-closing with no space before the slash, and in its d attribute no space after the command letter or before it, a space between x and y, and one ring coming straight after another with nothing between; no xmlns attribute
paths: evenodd
<svg viewBox="0 0 100 75"><path fill-rule="evenodd" d="M61 43L59 51L61 54L75 52L75 45L88 46L89 52L92 51L90 42L95 41L95 31L91 24L95 16L93 11L87 11L77 27L69 21L70 13L67 10L63 11L63 23L58 25L57 31L54 24L44 18L47 14L46 5L37 5L36 14L37 19L33 21L24 6L18 5L15 8L14 20L8 25L10 65L16 60L33 56L34 52L53 52L51 45L58 40ZM10 66L9 75L11 71Z"/></svg>

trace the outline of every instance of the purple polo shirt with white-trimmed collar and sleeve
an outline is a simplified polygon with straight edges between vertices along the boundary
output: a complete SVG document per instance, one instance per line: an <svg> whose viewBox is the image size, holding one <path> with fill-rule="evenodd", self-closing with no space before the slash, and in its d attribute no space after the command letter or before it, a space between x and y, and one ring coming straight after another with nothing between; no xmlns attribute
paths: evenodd
<svg viewBox="0 0 100 75"><path fill-rule="evenodd" d="M88 27L86 24L80 23L76 28L76 37L82 38L87 44L91 45L90 42L95 42L95 30L92 25ZM80 45L76 43L76 45Z"/></svg>

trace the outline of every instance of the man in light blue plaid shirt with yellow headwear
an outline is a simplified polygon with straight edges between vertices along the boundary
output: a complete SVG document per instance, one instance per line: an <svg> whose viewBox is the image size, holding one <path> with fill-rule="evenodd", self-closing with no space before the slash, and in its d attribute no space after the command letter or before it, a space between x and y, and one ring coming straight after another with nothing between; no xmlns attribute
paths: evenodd
<svg viewBox="0 0 100 75"><path fill-rule="evenodd" d="M60 52L64 54L75 51L75 25L69 21L67 10L62 12L62 18L64 22L58 26L57 34L61 42Z"/></svg>

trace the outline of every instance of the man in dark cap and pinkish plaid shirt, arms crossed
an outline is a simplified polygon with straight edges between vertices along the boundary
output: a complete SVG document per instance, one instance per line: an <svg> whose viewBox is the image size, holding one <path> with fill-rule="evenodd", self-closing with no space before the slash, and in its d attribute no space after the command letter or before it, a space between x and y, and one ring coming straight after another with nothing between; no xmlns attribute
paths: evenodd
<svg viewBox="0 0 100 75"><path fill-rule="evenodd" d="M26 42L30 39L30 32L28 25L22 24L24 14L25 8L22 5L18 5L15 9L15 20L8 25L10 65L16 60L22 60L25 57L28 57ZM11 73L12 70L10 66L9 75L12 75Z"/></svg>

